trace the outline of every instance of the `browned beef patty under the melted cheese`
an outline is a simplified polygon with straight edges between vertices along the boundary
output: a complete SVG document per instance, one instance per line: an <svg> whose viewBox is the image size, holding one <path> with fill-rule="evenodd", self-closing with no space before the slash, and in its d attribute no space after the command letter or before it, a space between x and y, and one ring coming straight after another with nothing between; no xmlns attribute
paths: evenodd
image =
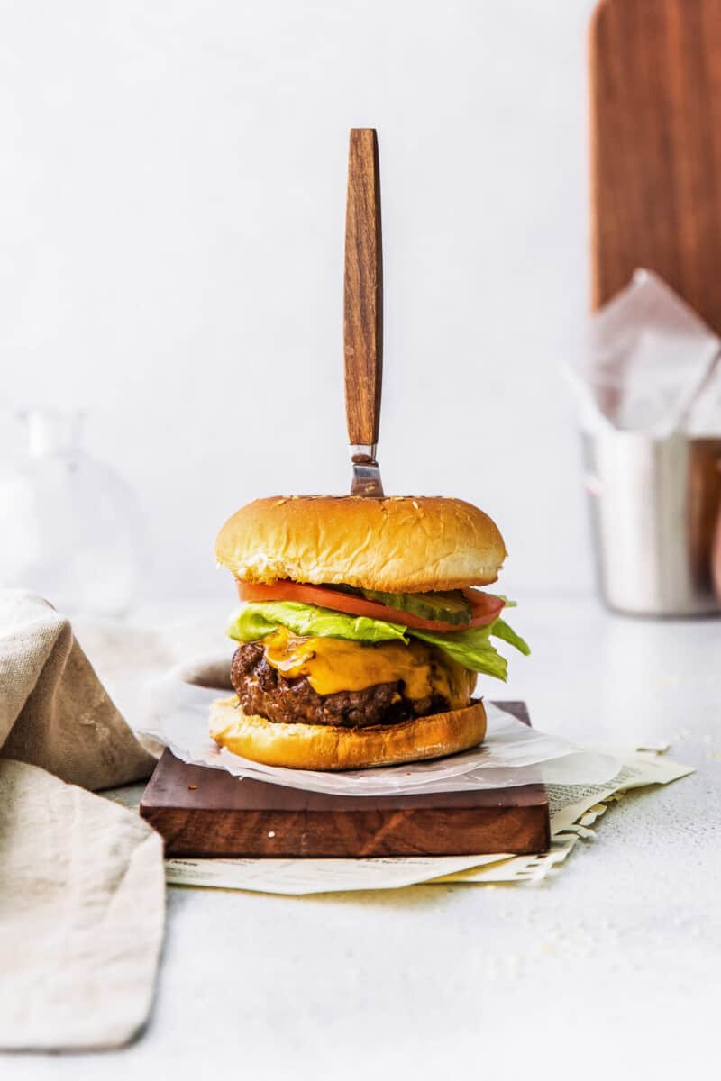
<svg viewBox="0 0 721 1081"><path fill-rule="evenodd" d="M284 723L368 728L398 724L413 717L427 717L449 709L448 700L441 695L404 697L403 680L376 683L363 691L318 694L307 676L288 679L276 671L265 659L262 642L250 642L236 650L230 682L244 713Z"/></svg>

